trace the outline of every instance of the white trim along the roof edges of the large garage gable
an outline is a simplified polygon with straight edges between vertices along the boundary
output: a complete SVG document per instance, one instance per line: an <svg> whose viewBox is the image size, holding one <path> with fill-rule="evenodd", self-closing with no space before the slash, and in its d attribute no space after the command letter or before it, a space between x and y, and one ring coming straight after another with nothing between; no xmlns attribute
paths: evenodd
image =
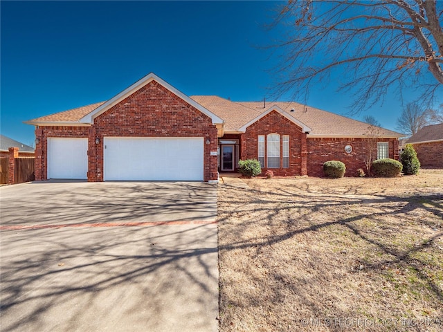
<svg viewBox="0 0 443 332"><path fill-rule="evenodd" d="M158 77L154 73L147 74L141 80L138 80L137 82L135 82L134 84L129 86L127 89L125 89L122 92L118 93L118 95L114 96L113 98L111 98L110 100L108 100L107 102L102 104L101 106L99 106L96 109L94 109L93 111L91 111L91 113L89 113L86 116L84 116L83 118L81 118L80 122L84 122L84 123L87 122L87 123L91 123L92 124L93 120L95 118L97 118L98 116L100 116L100 114L105 113L105 111L107 111L111 107L115 106L116 104L118 104L119 102L121 102L122 100L127 98L129 95L132 95L134 92L136 92L139 89L143 88L143 86L149 84L152 81L155 81L155 82L161 84L161 86L165 87L166 89L168 89L169 91L174 93L174 95L177 95L179 98L181 98L182 100L184 100L185 102L190 104L192 107L195 107L196 109L201 111L201 113L204 113L206 116L211 118L211 120L213 120L213 124L223 124L223 120L221 118L219 118L214 113L212 113L208 109L206 109L203 106L201 106L201 104L198 104L197 102L195 102L195 100L192 100L191 98L189 98L184 93L182 93L179 90L175 89L174 86L172 86L172 85L168 84L167 82L163 81L160 77Z"/></svg>

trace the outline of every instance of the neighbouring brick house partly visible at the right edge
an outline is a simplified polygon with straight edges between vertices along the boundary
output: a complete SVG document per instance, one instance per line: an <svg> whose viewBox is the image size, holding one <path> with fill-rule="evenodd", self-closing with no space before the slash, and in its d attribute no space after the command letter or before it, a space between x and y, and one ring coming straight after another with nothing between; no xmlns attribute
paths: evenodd
<svg viewBox="0 0 443 332"><path fill-rule="evenodd" d="M406 144L413 145L422 167L443 168L443 123L423 127Z"/></svg>

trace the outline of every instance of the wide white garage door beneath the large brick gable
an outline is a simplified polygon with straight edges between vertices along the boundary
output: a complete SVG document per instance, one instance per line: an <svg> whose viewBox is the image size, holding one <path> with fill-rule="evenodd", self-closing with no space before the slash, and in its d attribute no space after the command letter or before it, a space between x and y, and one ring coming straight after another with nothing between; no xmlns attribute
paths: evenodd
<svg viewBox="0 0 443 332"><path fill-rule="evenodd" d="M202 137L105 137L104 179L203 181Z"/></svg>

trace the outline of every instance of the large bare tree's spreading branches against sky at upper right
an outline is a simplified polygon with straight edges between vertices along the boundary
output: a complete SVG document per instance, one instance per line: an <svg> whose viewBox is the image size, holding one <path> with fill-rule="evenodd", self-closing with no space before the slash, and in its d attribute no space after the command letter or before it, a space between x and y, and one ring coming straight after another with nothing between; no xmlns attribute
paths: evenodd
<svg viewBox="0 0 443 332"><path fill-rule="evenodd" d="M312 84L329 83L341 68L338 87L357 91L354 113L392 86L413 87L430 104L443 88L442 13L435 0L291 0L274 24L289 32L276 45L276 92L306 99Z"/></svg>

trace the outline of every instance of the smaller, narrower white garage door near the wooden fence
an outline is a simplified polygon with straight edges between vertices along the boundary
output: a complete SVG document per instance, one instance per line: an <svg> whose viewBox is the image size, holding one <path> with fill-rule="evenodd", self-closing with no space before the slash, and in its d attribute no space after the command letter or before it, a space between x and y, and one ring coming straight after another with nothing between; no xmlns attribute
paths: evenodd
<svg viewBox="0 0 443 332"><path fill-rule="evenodd" d="M48 138L48 178L86 179L87 138Z"/></svg>

